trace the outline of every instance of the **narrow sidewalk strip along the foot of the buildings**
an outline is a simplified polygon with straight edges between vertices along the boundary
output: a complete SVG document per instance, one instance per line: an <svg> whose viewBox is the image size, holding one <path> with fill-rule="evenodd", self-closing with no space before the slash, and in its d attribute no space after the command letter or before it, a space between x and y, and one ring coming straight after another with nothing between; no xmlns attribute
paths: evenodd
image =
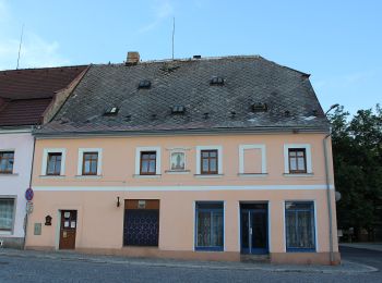
<svg viewBox="0 0 382 283"><path fill-rule="evenodd" d="M220 269L220 270L247 270L247 271L268 271L268 272L308 272L308 273L366 273L374 272L378 269L366 264L344 260L341 266L291 266L273 263L248 263L248 262L217 262L217 261L191 261L157 258L129 258L119 256L94 256L79 254L75 251L35 251L17 249L0 249L0 258L23 257L49 260L71 260L86 261L94 263L146 266L164 268L187 268L187 269Z"/></svg>

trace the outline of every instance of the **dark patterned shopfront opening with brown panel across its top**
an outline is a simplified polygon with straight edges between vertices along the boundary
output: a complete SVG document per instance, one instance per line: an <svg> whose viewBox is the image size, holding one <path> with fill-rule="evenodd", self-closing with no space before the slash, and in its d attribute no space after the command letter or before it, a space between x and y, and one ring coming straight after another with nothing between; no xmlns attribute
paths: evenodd
<svg viewBox="0 0 382 283"><path fill-rule="evenodd" d="M159 201L126 200L124 246L158 246Z"/></svg>

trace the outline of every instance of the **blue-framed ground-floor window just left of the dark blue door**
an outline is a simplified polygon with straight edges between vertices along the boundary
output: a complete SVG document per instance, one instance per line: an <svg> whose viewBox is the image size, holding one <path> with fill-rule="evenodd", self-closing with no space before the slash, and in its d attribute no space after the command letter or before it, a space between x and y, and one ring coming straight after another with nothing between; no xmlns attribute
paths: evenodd
<svg viewBox="0 0 382 283"><path fill-rule="evenodd" d="M195 249L224 249L224 205L223 202L196 202Z"/></svg>

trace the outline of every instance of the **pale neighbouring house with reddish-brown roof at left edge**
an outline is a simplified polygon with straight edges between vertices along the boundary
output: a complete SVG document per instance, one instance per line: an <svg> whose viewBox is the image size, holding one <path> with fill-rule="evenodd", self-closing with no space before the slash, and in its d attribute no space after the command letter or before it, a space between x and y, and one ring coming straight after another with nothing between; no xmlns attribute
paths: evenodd
<svg viewBox="0 0 382 283"><path fill-rule="evenodd" d="M33 126L52 118L85 66L0 72L0 245L23 247Z"/></svg>

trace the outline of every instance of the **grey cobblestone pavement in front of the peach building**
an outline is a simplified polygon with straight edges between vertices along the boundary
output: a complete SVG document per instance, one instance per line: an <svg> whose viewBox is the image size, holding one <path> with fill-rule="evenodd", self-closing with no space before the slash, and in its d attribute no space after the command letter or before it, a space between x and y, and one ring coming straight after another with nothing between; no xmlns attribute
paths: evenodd
<svg viewBox="0 0 382 283"><path fill-rule="evenodd" d="M0 282L382 282L382 253L343 253L341 267L301 267L0 250Z"/></svg>

